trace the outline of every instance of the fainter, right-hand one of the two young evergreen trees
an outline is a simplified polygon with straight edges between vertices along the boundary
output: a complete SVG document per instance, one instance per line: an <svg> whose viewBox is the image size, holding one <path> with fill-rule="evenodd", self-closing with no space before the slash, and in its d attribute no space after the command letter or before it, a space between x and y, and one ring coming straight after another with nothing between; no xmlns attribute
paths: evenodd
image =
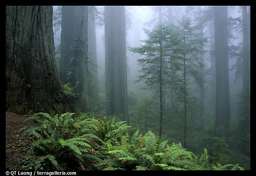
<svg viewBox="0 0 256 176"><path fill-rule="evenodd" d="M199 28L201 28L200 25L192 26L192 20L189 18L182 18L178 24L180 44L176 48L175 54L183 70L183 74L181 74L183 77L183 88L180 91L183 94L182 100L184 103L184 147L187 145L188 105L190 105L191 112L196 108L196 104L191 102L191 100L195 100L195 97L192 96L188 85L191 83L191 78L196 81L200 88L203 87L204 82L201 71L204 64L200 55L204 53L202 47L207 42L207 39L201 36Z"/></svg>

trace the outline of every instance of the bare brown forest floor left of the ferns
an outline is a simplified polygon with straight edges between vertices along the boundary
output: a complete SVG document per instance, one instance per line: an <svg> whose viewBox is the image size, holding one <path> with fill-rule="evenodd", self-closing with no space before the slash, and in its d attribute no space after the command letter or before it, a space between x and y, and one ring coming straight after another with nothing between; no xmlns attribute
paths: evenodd
<svg viewBox="0 0 256 176"><path fill-rule="evenodd" d="M29 140L21 136L19 129L30 115L16 115L10 112L5 113L5 168L6 170L22 170L20 161L29 152ZM31 122L28 122L31 124ZM26 123L26 124L28 124Z"/></svg>

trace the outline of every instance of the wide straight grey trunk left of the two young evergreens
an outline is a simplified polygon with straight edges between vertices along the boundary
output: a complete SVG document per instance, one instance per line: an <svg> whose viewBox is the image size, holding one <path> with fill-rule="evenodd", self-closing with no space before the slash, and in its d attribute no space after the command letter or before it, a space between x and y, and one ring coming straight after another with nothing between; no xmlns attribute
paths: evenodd
<svg viewBox="0 0 256 176"><path fill-rule="evenodd" d="M107 114L129 123L124 7L105 6L104 23Z"/></svg>

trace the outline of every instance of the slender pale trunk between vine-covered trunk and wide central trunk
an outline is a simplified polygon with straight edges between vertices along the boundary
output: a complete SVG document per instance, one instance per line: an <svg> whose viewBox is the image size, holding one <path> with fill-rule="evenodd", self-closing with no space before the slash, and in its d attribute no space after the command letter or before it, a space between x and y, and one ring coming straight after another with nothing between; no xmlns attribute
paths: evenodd
<svg viewBox="0 0 256 176"><path fill-rule="evenodd" d="M98 86L98 67L96 53L96 26L95 26L95 9L88 7L88 105L89 108L95 108L99 101L99 86Z"/></svg>

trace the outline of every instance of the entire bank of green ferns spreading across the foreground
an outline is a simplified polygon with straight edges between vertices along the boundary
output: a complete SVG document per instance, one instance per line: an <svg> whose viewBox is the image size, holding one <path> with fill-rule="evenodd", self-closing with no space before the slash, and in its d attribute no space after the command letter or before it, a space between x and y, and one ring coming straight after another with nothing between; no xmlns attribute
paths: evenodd
<svg viewBox="0 0 256 176"><path fill-rule="evenodd" d="M56 169L90 170L226 170L240 169L238 164L210 165L208 153L202 156L169 145L148 131L144 136L136 131L129 135L131 126L115 117L101 117L93 113L67 112L50 116L37 113L27 120L37 125L20 129L31 136L31 146L37 155Z"/></svg>

